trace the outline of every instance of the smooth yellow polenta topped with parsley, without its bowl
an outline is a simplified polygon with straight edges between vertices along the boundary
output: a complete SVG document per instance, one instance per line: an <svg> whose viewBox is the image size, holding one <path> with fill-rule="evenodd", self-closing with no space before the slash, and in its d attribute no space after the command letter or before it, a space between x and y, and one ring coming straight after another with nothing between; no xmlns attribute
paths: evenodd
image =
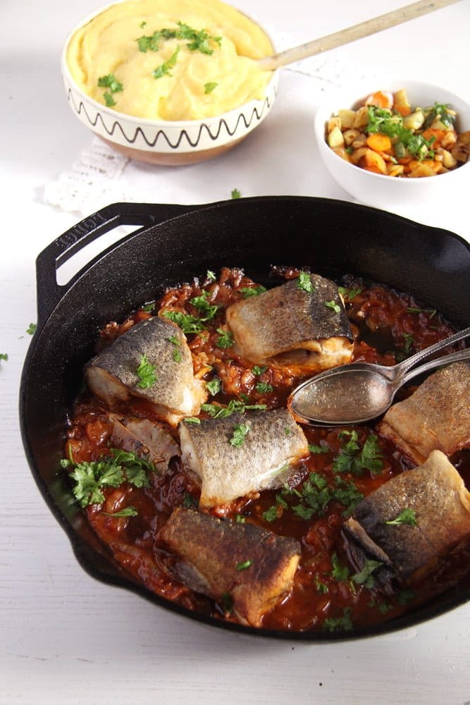
<svg viewBox="0 0 470 705"><path fill-rule="evenodd" d="M219 0L131 0L80 27L67 63L83 92L121 113L196 120L262 99L271 72L254 59L272 53L263 30Z"/></svg>

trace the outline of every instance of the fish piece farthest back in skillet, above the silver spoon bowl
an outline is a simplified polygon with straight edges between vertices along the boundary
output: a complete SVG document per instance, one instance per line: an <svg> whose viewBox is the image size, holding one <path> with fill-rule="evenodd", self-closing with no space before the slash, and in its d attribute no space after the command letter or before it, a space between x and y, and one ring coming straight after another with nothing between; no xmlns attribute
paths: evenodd
<svg viewBox="0 0 470 705"><path fill-rule="evenodd" d="M295 279L228 307L227 322L242 357L305 370L350 362L352 333L338 287L318 274L309 276L311 293Z"/></svg>

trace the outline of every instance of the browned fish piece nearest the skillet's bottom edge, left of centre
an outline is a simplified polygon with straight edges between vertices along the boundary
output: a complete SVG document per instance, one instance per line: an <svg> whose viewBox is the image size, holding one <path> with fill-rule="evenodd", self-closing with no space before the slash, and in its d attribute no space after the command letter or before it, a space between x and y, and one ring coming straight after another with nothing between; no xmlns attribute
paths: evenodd
<svg viewBox="0 0 470 705"><path fill-rule="evenodd" d="M301 551L295 539L181 507L159 539L180 559L173 568L180 582L216 601L230 596L237 618L252 627L289 593Z"/></svg>

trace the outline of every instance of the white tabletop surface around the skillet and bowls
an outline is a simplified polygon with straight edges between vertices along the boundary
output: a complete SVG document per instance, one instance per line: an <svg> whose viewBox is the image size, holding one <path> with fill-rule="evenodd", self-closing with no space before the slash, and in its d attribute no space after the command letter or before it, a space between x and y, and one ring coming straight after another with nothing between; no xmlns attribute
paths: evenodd
<svg viewBox="0 0 470 705"><path fill-rule="evenodd" d="M314 0L238 0L280 48L399 7ZM225 633L93 580L30 475L18 386L36 319L35 257L80 219L44 201L91 135L67 106L59 56L94 0L2 0L0 6L0 703L452 704L470 702L470 606L395 634L295 644ZM323 90L348 72L395 72L469 99L470 2L285 70L266 122L233 152L180 168L130 163L129 200L209 202L242 195L347 195L319 164L312 119ZM306 75L308 73L309 75ZM142 197L140 197L142 194ZM416 204L416 220L470 240L469 184L454 202ZM101 205L106 204L101 203ZM386 208L386 204L384 204Z"/></svg>

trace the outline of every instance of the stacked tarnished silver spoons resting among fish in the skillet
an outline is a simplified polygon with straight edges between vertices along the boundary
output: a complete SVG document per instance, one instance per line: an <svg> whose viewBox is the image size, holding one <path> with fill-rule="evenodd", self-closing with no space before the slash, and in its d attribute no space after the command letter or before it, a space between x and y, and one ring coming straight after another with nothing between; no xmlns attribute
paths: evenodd
<svg viewBox="0 0 470 705"><path fill-rule="evenodd" d="M421 360L470 336L470 328L386 367L352 362L307 379L292 391L287 405L297 421L313 426L358 424L375 419L391 405L401 386L418 374L457 360L470 359L470 348L415 367ZM411 369L414 367L414 369Z"/></svg>

